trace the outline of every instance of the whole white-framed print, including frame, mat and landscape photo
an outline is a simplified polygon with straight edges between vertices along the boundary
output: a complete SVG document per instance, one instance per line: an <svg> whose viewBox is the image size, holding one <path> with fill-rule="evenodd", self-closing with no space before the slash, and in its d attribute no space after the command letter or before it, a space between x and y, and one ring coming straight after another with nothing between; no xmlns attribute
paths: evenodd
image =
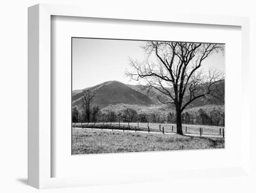
<svg viewBox="0 0 256 193"><path fill-rule="evenodd" d="M248 18L113 15L28 9L29 185L248 176Z"/></svg>

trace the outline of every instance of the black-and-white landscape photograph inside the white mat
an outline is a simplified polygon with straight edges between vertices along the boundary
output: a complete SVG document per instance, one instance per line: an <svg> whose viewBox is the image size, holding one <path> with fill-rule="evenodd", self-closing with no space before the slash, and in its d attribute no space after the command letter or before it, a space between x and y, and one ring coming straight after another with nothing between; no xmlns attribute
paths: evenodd
<svg viewBox="0 0 256 193"><path fill-rule="evenodd" d="M225 148L225 45L72 38L72 154Z"/></svg>

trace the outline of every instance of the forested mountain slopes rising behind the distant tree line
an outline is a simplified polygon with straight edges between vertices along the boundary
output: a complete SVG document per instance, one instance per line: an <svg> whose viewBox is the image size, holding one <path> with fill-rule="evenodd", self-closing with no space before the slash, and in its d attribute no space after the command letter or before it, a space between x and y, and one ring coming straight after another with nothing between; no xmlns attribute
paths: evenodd
<svg viewBox="0 0 256 193"><path fill-rule="evenodd" d="M224 83L221 86L223 87L223 94L221 97L224 98ZM72 105L81 107L81 96L87 90L96 93L93 104L98 105L100 109L109 105L121 103L142 106L161 106L162 103L159 102L158 97L162 102L170 100L168 96L163 95L157 89L151 89L147 93L146 90L143 90L142 85L130 85L123 84L118 81L108 81L83 90L74 90L72 92ZM185 96L184 101L188 98L188 95ZM206 98L198 98L193 101L192 104L188 106L188 108L200 107L209 104L219 105L221 104L221 101L216 98L210 98L210 100Z"/></svg>

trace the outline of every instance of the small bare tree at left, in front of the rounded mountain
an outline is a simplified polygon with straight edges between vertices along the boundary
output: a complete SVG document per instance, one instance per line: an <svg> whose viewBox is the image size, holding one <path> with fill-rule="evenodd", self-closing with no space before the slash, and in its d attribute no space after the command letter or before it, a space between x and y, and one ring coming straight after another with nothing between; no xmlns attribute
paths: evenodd
<svg viewBox="0 0 256 193"><path fill-rule="evenodd" d="M92 115L92 102L93 102L94 96L95 96L94 92L87 90L82 94L82 97L81 97L82 106L85 110L88 123L90 122L90 117Z"/></svg>

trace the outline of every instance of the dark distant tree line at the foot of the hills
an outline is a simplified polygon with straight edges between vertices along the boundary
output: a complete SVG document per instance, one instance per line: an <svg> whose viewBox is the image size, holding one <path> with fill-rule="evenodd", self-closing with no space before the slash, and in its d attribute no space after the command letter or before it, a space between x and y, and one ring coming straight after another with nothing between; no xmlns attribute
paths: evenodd
<svg viewBox="0 0 256 193"><path fill-rule="evenodd" d="M88 115L89 112L89 115ZM175 111L138 111L132 108L100 109L91 106L90 111L78 110L77 106L72 109L72 122L152 122L152 123L176 123ZM224 110L222 108L211 109L188 109L182 113L182 123L224 126Z"/></svg>

